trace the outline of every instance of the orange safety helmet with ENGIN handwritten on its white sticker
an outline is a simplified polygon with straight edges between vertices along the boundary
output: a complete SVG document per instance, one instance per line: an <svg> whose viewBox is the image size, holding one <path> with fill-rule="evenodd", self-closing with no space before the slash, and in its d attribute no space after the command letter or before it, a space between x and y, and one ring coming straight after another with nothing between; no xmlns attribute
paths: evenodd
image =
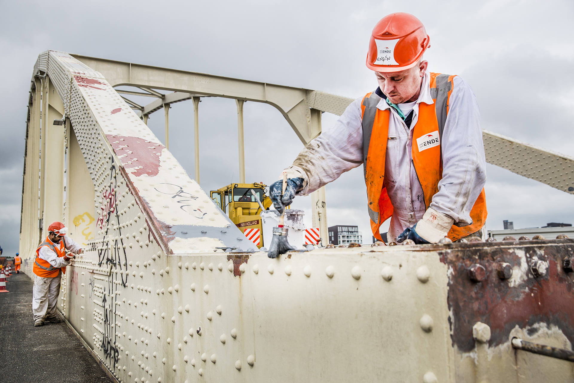
<svg viewBox="0 0 574 383"><path fill-rule="evenodd" d="M410 13L391 13L373 28L367 68L377 72L398 72L414 67L430 47L425 26Z"/></svg>

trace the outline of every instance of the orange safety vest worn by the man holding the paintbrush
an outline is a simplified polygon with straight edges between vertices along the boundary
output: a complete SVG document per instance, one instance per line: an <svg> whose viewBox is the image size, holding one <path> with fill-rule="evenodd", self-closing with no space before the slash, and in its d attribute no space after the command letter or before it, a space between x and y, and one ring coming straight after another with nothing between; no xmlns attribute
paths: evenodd
<svg viewBox="0 0 574 383"><path fill-rule="evenodd" d="M425 206L428 208L433 195L439 191L439 181L443 177L443 164L441 156L444 124L447 121L449 98L454 87L453 78L456 75L443 75L430 73L430 95L435 105L424 102L418 104L418 120L413 129L412 157L414 169L421 183ZM364 180L367 184L367 197L369 198L369 216L371 230L375 238L382 241L379 227L391 215L393 204L385 187L385 154L387 150L387 137L389 134L390 110L380 110L377 105L381 97L375 92L367 93L361 103L363 118L363 164ZM439 146L418 151L415 144L417 137L439 131ZM486 197L484 188L476 199L470 212L472 223L468 226L451 227L447 237L452 241L476 233L486 222Z"/></svg>

